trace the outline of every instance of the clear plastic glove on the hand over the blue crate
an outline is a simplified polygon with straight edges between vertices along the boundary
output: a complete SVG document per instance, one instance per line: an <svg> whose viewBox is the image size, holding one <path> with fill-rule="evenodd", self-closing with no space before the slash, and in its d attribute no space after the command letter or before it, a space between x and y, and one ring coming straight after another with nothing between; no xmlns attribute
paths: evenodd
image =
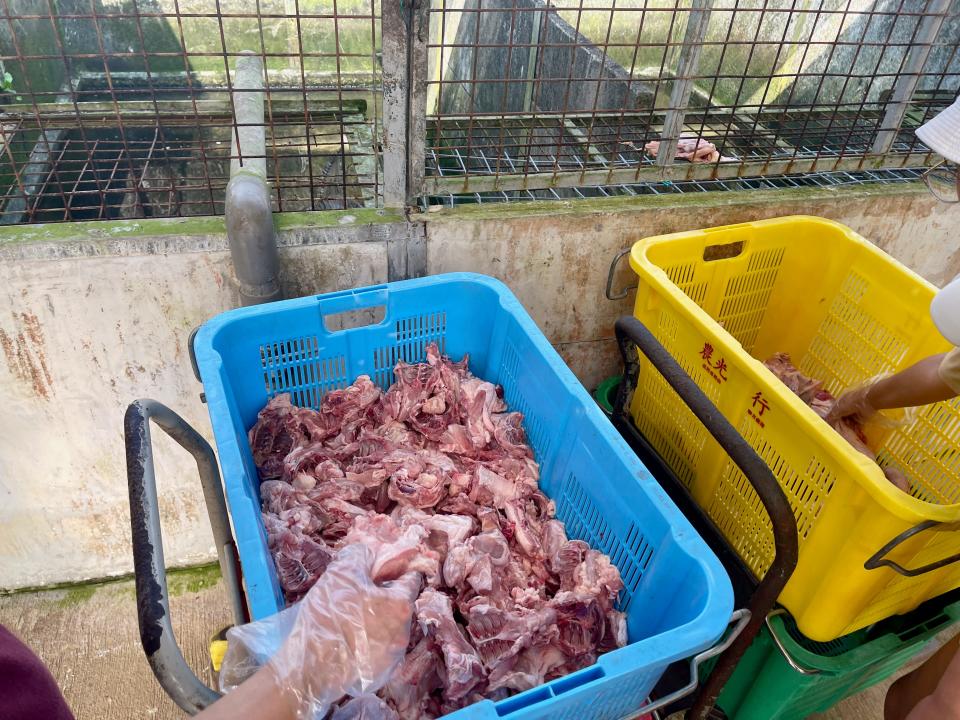
<svg viewBox="0 0 960 720"><path fill-rule="evenodd" d="M298 720L324 717L344 695L379 690L406 652L421 576L377 584L375 561L370 548L348 545L295 606L231 629L221 688L235 687L269 658Z"/></svg>

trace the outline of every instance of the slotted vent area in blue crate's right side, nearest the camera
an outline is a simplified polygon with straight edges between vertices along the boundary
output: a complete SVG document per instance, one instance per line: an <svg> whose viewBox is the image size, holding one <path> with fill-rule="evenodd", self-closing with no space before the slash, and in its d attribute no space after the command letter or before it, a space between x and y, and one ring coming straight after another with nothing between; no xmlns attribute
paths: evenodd
<svg viewBox="0 0 960 720"><path fill-rule="evenodd" d="M625 535L615 533L572 473L567 476L559 494L557 517L566 525L568 537L583 540L610 556L623 580L624 589L618 604L621 610L626 610L653 559L653 546L633 523Z"/></svg>

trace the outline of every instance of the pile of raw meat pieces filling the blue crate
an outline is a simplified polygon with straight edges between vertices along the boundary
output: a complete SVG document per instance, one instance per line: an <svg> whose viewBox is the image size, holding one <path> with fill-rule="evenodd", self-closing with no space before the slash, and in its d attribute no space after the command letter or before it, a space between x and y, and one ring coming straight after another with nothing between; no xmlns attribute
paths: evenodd
<svg viewBox="0 0 960 720"><path fill-rule="evenodd" d="M392 543L386 562L423 573L406 658L379 693L400 718L501 699L623 646L620 574L554 519L501 388L436 346L394 374L387 392L360 376L319 412L279 395L250 430L288 601L346 543Z"/></svg>

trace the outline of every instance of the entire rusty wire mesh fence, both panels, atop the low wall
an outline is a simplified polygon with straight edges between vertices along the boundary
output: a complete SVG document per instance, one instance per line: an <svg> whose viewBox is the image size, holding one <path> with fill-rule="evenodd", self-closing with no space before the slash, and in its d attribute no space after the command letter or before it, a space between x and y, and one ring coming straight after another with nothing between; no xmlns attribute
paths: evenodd
<svg viewBox="0 0 960 720"><path fill-rule="evenodd" d="M0 224L220 214L254 160L277 211L376 207L404 114L408 202L918 168L960 90L960 0L420 1L386 58L379 0L0 0Z"/></svg>

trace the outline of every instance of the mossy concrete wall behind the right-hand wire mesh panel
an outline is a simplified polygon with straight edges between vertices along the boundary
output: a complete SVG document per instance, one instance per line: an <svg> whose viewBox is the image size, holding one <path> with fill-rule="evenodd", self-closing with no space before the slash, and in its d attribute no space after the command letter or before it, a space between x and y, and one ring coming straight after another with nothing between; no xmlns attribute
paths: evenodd
<svg viewBox="0 0 960 720"><path fill-rule="evenodd" d="M444 79L456 82L473 76L484 82L473 90L445 85L440 111L523 112L522 84L504 81L533 76L529 53L525 47L515 49L505 66L506 47L531 42L540 45L541 54L535 73L541 80L540 99L534 108L575 112L594 106L650 107L653 81L662 76L663 84L672 86L688 5L620 0L556 8L538 38L533 24L541 16L534 11L543 7L541 0L484 0L481 14L459 12L461 7L475 9L476 0L446 2L444 42L452 47L444 53ZM903 9L902 0L716 0L696 73L705 79L696 85L712 94L713 104L724 107L842 104L850 110L861 103L879 103L903 67L920 19ZM958 30L960 0L953 0L921 89L956 92L960 55L953 49ZM478 41L491 47L457 47ZM439 50L434 54L436 64ZM571 69L572 77L587 80L568 83ZM631 70L635 79L628 84ZM663 95L658 106L665 103Z"/></svg>

